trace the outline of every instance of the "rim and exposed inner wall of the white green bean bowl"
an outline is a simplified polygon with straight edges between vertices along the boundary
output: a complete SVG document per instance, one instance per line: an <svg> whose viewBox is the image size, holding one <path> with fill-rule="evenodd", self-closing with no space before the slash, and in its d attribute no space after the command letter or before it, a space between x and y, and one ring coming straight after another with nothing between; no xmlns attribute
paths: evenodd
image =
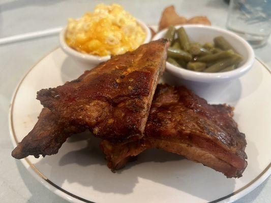
<svg viewBox="0 0 271 203"><path fill-rule="evenodd" d="M182 69L171 63L166 63L166 70L178 78L182 78L195 82L221 82L229 81L247 73L254 62L254 51L252 47L243 38L237 36L235 33L213 26L204 25L177 25L176 28L183 26L189 36L190 41L199 42L204 44L206 42L213 42L213 39L217 36L223 36L233 48L244 57L244 60L237 69L223 72L223 73L201 73ZM167 29L163 29L158 32L153 40L162 38Z"/></svg>

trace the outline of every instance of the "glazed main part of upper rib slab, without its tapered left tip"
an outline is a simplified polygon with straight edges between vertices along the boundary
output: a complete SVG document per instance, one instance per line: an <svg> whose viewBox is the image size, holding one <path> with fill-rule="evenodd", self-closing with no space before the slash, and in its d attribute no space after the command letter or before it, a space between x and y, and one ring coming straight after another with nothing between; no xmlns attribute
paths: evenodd
<svg viewBox="0 0 271 203"><path fill-rule="evenodd" d="M99 138L140 139L167 47L164 39L141 45L65 85L40 90L37 99L61 122L84 126Z"/></svg>

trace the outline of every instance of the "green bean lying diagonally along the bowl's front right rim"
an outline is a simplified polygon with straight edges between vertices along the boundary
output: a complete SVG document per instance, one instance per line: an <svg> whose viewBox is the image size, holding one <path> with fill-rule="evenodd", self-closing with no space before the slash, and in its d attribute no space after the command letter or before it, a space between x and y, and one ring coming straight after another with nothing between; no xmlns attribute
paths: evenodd
<svg viewBox="0 0 271 203"><path fill-rule="evenodd" d="M205 69L204 72L207 72L207 73L219 72L232 64L239 63L242 60L243 60L242 56L235 54L230 58L225 58L224 60L221 60L221 61L207 67L207 69Z"/></svg>

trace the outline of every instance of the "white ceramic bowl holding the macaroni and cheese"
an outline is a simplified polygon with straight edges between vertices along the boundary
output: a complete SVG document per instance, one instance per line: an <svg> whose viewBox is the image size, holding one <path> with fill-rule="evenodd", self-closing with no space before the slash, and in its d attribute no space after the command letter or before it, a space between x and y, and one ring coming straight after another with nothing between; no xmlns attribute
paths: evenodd
<svg viewBox="0 0 271 203"><path fill-rule="evenodd" d="M150 42L150 39L152 38L152 33L150 32L150 29L142 21L138 19L136 21L146 32L146 39L143 42L143 44ZM65 41L66 29L67 29L67 26L59 33L59 42L60 42L61 48L66 54L68 54L69 56L73 57L74 59L80 62L93 64L93 65L97 65L100 62L107 61L108 59L110 59L110 56L97 56L97 55L91 55L91 54L84 54L69 47L69 45L67 45Z"/></svg>

